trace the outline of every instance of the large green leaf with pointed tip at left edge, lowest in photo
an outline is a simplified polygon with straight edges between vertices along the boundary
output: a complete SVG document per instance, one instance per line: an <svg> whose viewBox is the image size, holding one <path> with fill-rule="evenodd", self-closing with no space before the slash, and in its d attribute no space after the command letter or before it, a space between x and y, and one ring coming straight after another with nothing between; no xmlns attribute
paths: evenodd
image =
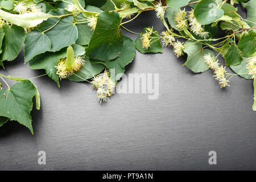
<svg viewBox="0 0 256 182"><path fill-rule="evenodd" d="M28 127L33 134L32 98L36 95L36 88L30 80L19 81L10 89L0 90L0 116L18 121Z"/></svg>

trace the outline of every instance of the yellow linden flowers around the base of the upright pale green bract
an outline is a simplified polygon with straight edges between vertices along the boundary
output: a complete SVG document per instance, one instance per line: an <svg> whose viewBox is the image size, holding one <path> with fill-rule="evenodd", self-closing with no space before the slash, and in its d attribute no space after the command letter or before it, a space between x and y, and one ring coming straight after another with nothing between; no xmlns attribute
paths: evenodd
<svg viewBox="0 0 256 182"><path fill-rule="evenodd" d="M55 67L57 69L56 74L59 75L60 80L65 79L70 75L73 75L73 72L77 72L80 70L82 65L85 64L85 60L83 60L81 57L77 56L75 57L75 64L73 65L72 69L67 69L66 67L66 59L60 59L58 61L57 66Z"/></svg>

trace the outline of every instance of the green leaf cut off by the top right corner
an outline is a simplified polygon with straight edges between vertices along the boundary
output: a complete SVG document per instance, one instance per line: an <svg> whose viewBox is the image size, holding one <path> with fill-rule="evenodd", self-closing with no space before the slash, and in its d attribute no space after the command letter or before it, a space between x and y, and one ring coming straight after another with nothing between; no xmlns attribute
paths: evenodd
<svg viewBox="0 0 256 182"><path fill-rule="evenodd" d="M248 1L246 3L242 3L243 7L247 9L247 24L250 27L256 27L256 1Z"/></svg>

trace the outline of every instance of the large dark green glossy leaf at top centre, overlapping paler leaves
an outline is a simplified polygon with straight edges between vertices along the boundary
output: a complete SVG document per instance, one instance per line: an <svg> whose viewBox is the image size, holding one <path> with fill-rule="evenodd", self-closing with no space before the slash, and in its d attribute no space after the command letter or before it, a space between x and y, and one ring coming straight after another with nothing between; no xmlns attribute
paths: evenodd
<svg viewBox="0 0 256 182"><path fill-rule="evenodd" d="M86 56L102 61L118 57L123 48L120 22L121 18L115 11L100 13L89 46L86 48Z"/></svg>

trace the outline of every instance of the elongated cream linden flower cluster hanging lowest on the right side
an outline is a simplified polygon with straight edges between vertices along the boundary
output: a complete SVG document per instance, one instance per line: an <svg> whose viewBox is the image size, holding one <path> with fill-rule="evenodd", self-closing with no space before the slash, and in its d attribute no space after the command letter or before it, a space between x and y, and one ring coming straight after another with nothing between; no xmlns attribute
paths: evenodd
<svg viewBox="0 0 256 182"><path fill-rule="evenodd" d="M226 79L226 67L223 67L223 65L219 65L218 60L216 60L216 57L210 56L210 53L207 55L204 55L204 61L206 64L208 64L208 67L210 69L214 70L214 77L215 80L218 81L218 84L221 88L224 88L226 86L229 86L228 82L229 80Z"/></svg>

